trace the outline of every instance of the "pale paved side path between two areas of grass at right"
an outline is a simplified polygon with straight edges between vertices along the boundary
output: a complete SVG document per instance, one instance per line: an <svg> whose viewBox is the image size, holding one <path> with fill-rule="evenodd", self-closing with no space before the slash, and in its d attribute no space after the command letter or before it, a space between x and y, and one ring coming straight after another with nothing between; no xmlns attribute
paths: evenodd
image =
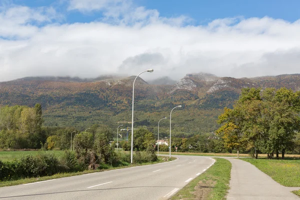
<svg viewBox="0 0 300 200"><path fill-rule="evenodd" d="M300 187L282 186L249 162L227 159L232 164L227 200L300 200L290 192Z"/></svg>

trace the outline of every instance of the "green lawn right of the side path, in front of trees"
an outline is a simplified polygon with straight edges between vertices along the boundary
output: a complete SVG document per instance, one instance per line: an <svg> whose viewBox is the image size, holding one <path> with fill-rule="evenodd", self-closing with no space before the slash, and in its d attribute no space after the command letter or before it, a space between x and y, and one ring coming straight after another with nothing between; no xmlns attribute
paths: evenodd
<svg viewBox="0 0 300 200"><path fill-rule="evenodd" d="M242 158L269 175L276 182L288 187L300 187L300 160Z"/></svg>

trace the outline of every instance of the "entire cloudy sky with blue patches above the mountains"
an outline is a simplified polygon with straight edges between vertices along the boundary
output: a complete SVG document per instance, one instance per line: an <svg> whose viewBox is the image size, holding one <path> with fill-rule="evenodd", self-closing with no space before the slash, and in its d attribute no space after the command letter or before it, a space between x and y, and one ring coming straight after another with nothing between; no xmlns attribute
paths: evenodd
<svg viewBox="0 0 300 200"><path fill-rule="evenodd" d="M0 0L0 81L300 73L298 0Z"/></svg>

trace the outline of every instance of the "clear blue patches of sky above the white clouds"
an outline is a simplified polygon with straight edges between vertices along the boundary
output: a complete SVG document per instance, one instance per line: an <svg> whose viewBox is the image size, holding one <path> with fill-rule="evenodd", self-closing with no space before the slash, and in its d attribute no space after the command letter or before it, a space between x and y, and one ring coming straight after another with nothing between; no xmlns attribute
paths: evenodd
<svg viewBox="0 0 300 200"><path fill-rule="evenodd" d="M216 18L264 17L295 21L299 18L299 0L134 0L137 6L157 9L161 16L186 15L194 19L193 24L206 24ZM66 0L14 0L13 3L30 7L53 5L65 14L65 21L90 22L101 17L101 11L81 13L66 11Z"/></svg>

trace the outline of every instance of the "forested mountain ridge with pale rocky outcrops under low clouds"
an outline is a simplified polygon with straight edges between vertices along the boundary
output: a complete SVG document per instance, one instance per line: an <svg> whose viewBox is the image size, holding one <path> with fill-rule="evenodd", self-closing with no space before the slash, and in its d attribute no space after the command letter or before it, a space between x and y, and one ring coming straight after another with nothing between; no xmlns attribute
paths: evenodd
<svg viewBox="0 0 300 200"><path fill-rule="evenodd" d="M0 82L0 105L41 103L44 125L86 128L95 123L112 128L130 126L132 83L135 76L101 76L93 79L70 77L25 77ZM300 90L300 74L253 78L218 77L209 73L190 73L176 81L168 77L147 83L138 77L134 87L134 126L147 126L156 132L157 122L172 113L173 133L189 136L214 131L223 107L232 107L244 87L286 87ZM152 84L151 84L152 83ZM153 84L155 83L155 84ZM160 84L158 84L160 83ZM168 122L161 121L167 134Z"/></svg>

